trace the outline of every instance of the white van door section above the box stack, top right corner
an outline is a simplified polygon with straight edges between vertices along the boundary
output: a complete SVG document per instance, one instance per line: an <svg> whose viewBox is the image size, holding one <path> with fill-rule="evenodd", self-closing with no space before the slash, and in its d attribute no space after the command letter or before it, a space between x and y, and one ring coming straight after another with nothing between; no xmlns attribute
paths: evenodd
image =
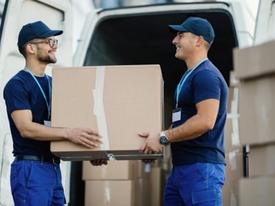
<svg viewBox="0 0 275 206"><path fill-rule="evenodd" d="M275 0L260 0L254 45L275 39Z"/></svg>

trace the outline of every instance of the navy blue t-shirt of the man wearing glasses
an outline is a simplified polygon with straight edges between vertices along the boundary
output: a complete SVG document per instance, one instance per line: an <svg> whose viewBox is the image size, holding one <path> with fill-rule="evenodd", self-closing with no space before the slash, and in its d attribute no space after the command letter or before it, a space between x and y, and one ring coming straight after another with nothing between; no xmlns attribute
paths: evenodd
<svg viewBox="0 0 275 206"><path fill-rule="evenodd" d="M47 76L36 77L36 79L39 81L49 103L50 91ZM49 80L52 84L52 78L49 77ZM23 70L19 71L19 73L12 77L5 85L3 96L10 122L14 156L44 155L45 157L52 157L50 141L36 141L34 139L21 137L19 130L10 116L14 110L30 110L32 111L32 122L44 124L44 120L47 120L47 103L31 74Z"/></svg>

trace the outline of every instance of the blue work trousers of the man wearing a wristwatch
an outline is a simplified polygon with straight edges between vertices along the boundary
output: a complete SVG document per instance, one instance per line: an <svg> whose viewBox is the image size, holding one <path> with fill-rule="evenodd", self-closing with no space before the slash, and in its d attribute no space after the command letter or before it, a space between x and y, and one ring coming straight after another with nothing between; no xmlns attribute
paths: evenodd
<svg viewBox="0 0 275 206"><path fill-rule="evenodd" d="M225 165L195 163L174 166L164 191L165 206L221 206Z"/></svg>

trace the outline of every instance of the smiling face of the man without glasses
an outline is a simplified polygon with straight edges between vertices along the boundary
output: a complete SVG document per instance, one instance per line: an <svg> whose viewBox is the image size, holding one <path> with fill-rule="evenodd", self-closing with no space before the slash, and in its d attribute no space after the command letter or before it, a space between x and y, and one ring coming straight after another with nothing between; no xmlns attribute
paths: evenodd
<svg viewBox="0 0 275 206"><path fill-rule="evenodd" d="M177 32L172 43L176 46L175 57L181 60L188 60L195 52L196 35L190 32Z"/></svg>

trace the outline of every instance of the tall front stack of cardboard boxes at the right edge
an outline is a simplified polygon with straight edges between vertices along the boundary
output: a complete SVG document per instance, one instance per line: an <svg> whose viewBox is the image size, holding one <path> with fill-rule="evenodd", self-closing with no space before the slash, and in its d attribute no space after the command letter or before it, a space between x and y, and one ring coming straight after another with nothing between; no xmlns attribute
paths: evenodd
<svg viewBox="0 0 275 206"><path fill-rule="evenodd" d="M275 41L234 50L239 85L240 141L250 146L248 179L239 205L275 205Z"/></svg>

